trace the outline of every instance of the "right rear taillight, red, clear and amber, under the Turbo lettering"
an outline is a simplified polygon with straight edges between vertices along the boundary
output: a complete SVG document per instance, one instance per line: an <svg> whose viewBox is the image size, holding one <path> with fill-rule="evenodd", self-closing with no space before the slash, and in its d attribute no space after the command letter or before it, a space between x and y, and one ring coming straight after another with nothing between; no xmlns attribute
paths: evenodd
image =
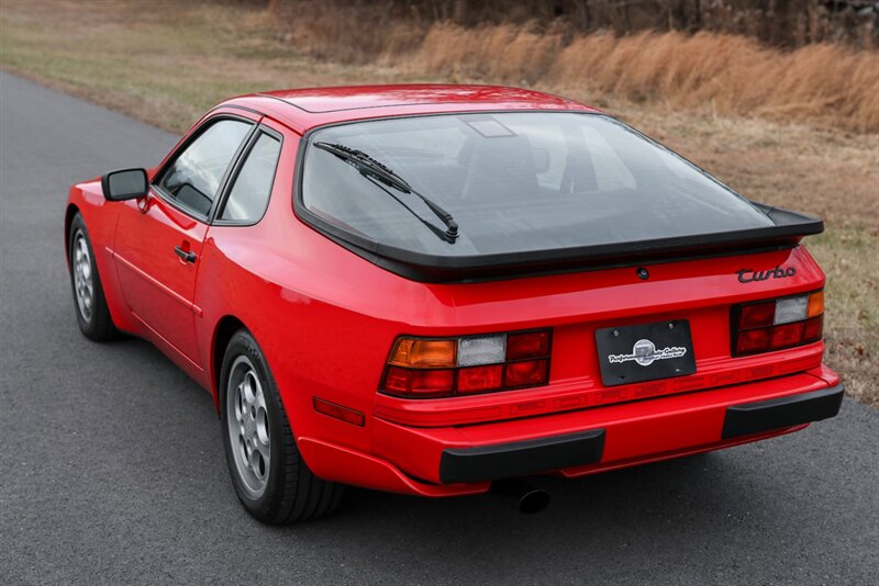
<svg viewBox="0 0 879 586"><path fill-rule="evenodd" d="M824 292L734 305L733 356L819 341L824 334Z"/></svg>

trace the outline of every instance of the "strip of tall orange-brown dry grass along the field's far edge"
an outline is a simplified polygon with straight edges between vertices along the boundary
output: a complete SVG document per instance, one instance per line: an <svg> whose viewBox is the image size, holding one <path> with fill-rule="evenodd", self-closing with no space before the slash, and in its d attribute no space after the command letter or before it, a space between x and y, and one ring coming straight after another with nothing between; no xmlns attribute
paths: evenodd
<svg viewBox="0 0 879 586"><path fill-rule="evenodd" d="M879 132L879 53L813 44L791 52L745 36L678 32L571 34L536 23L465 29L371 23L341 11L287 19L291 46L319 59L378 63L444 78L587 88L717 114ZM375 34L378 29L380 34ZM346 38L347 43L336 40Z"/></svg>

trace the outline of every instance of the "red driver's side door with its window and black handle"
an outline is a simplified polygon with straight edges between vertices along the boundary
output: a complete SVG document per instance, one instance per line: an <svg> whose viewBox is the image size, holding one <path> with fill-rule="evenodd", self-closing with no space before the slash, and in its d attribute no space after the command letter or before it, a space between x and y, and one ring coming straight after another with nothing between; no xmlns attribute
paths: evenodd
<svg viewBox="0 0 879 586"><path fill-rule="evenodd" d="M214 203L254 128L240 117L208 120L155 174L149 195L120 212L114 258L132 314L199 369L199 256Z"/></svg>

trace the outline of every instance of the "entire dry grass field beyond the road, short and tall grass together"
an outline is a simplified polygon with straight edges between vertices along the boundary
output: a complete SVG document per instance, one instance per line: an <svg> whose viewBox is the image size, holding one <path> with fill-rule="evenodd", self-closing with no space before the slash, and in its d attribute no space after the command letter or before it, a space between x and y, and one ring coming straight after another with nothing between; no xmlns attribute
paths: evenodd
<svg viewBox="0 0 879 586"><path fill-rule="evenodd" d="M336 16L291 25L241 5L3 0L0 67L175 132L231 95L330 84L499 82L604 108L746 196L825 218L806 245L828 279L827 361L879 406L877 52L527 25L354 34Z"/></svg>

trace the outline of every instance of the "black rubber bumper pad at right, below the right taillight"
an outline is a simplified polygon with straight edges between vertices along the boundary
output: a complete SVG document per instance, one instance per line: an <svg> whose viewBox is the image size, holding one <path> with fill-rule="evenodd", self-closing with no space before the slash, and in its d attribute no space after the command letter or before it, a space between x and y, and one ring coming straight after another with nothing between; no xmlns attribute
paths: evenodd
<svg viewBox="0 0 879 586"><path fill-rule="evenodd" d="M811 393L727 407L721 438L750 436L834 417L839 413L844 392L845 386L837 384Z"/></svg>

